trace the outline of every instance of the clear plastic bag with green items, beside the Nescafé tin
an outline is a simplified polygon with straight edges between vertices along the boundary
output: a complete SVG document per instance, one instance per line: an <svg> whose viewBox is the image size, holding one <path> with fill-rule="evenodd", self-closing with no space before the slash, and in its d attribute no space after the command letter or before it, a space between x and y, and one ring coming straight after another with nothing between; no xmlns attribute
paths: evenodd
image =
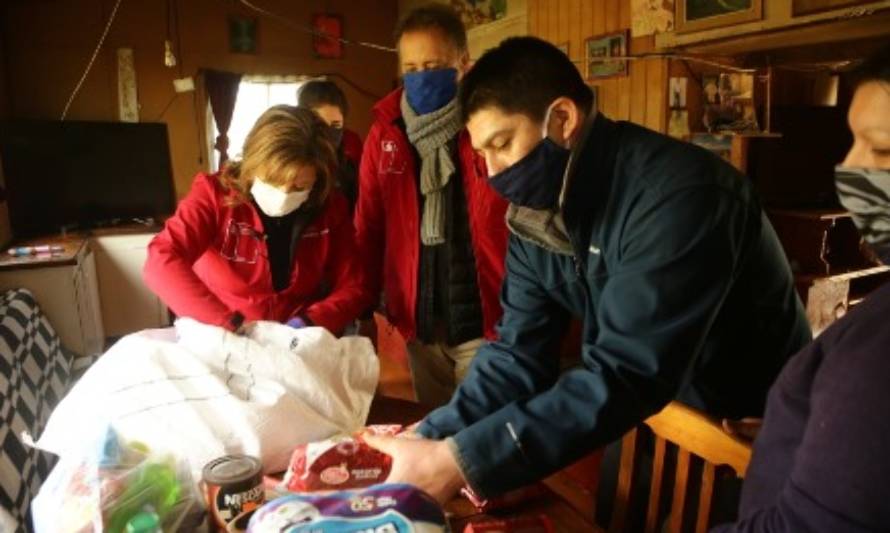
<svg viewBox="0 0 890 533"><path fill-rule="evenodd" d="M63 458L32 504L37 533L194 531L203 522L190 469L108 429Z"/></svg>

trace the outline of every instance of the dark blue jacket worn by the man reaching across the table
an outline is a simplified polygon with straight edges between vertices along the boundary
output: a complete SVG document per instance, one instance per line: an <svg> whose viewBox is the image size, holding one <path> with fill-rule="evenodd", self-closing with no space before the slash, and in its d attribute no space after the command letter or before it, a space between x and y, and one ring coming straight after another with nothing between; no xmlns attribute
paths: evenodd
<svg viewBox="0 0 890 533"><path fill-rule="evenodd" d="M709 152L589 121L562 213L574 254L511 236L498 339L419 427L485 496L540 479L672 399L758 415L810 330L748 180ZM581 366L560 373L570 317Z"/></svg>

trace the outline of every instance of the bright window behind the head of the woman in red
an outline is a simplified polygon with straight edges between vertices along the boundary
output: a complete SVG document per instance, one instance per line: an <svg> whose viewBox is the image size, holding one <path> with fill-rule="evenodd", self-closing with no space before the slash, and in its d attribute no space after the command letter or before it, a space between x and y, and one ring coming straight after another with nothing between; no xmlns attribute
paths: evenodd
<svg viewBox="0 0 890 533"><path fill-rule="evenodd" d="M229 126L229 158L240 159L241 150L244 146L244 139L253 127L256 119L263 114L266 109L273 105L288 104L297 105L297 91L300 86L305 83L297 81L295 77L276 78L270 80L268 77L250 77L242 78L238 86L238 99L235 101L235 111L232 113L232 124ZM212 131L213 135L208 138L210 143L210 168L219 169L219 152L213 148L219 130L216 127L216 121L213 119L213 113L210 112L208 104L208 122L210 127L208 131Z"/></svg>

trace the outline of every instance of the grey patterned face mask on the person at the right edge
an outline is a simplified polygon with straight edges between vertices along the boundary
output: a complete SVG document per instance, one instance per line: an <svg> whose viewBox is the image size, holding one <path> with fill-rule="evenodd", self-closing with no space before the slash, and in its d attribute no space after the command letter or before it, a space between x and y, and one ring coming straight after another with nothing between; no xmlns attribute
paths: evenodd
<svg viewBox="0 0 890 533"><path fill-rule="evenodd" d="M834 176L838 198L862 238L890 265L890 169L838 166Z"/></svg>

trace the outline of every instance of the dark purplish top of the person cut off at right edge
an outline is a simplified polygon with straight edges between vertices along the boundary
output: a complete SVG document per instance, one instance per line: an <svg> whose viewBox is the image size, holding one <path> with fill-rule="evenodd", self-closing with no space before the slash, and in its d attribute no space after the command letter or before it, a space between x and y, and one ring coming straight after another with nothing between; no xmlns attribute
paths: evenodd
<svg viewBox="0 0 890 533"><path fill-rule="evenodd" d="M769 393L740 520L721 533L890 531L890 285L794 356Z"/></svg>

